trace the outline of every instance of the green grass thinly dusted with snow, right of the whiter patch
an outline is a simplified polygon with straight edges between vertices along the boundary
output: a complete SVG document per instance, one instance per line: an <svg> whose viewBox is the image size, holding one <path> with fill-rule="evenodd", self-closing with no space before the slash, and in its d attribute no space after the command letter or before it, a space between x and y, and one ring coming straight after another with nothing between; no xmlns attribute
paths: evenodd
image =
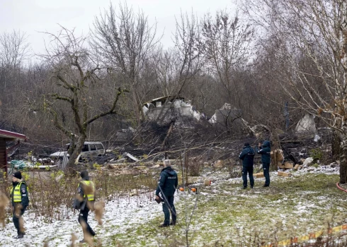
<svg viewBox="0 0 347 247"><path fill-rule="evenodd" d="M123 246L186 246L186 215L196 197L198 207L188 231L190 246L252 246L254 236L265 242L301 236L326 226L327 215L332 226L346 223L347 195L336 188L336 181L338 175L306 174L274 176L269 188L256 180L254 190L241 190L241 183L229 181L202 186L203 194L181 196L176 203L176 227L159 229L162 215L113 239Z"/></svg>

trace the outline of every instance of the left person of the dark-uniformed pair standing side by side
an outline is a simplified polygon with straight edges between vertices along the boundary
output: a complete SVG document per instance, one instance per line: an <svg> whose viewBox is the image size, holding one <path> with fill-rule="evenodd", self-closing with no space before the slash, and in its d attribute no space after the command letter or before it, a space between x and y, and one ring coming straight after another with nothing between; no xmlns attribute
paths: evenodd
<svg viewBox="0 0 347 247"><path fill-rule="evenodd" d="M242 180L244 181L244 189L247 188L247 173L249 174L249 183L251 188L254 186L253 178L253 164L254 164L255 152L249 143L244 143L244 149L239 155L239 159L242 159Z"/></svg>

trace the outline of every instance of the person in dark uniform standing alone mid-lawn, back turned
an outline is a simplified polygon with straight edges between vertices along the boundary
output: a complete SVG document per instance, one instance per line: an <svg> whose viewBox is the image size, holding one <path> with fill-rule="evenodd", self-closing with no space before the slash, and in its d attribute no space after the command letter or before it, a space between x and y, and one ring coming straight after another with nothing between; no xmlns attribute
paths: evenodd
<svg viewBox="0 0 347 247"><path fill-rule="evenodd" d="M156 199L159 200L159 193L161 193L164 223L159 227L169 227L169 225L176 224L176 209L174 206L174 193L178 185L178 177L176 171L171 168L170 160L164 160L164 169L161 170L158 182L157 191L155 192ZM170 222L170 212L172 221Z"/></svg>

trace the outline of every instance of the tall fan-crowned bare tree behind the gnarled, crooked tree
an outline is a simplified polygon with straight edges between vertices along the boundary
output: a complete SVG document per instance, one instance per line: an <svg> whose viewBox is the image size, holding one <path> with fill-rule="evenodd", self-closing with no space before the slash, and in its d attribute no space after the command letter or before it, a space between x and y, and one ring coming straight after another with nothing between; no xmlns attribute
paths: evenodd
<svg viewBox="0 0 347 247"><path fill-rule="evenodd" d="M119 4L118 11L110 5L108 10L95 18L92 45L103 63L123 75L129 86L137 125L142 118L140 100L140 73L159 39L157 26L149 25L147 16L134 13L127 4Z"/></svg>

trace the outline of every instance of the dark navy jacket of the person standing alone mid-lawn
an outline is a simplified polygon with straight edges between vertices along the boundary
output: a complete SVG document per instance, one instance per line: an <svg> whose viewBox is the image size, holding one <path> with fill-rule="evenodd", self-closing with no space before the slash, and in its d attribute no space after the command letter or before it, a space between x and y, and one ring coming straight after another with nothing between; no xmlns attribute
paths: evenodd
<svg viewBox="0 0 347 247"><path fill-rule="evenodd" d="M171 167L165 167L161 170L155 195L164 194L165 196L173 196L178 185L178 177L176 171Z"/></svg>

